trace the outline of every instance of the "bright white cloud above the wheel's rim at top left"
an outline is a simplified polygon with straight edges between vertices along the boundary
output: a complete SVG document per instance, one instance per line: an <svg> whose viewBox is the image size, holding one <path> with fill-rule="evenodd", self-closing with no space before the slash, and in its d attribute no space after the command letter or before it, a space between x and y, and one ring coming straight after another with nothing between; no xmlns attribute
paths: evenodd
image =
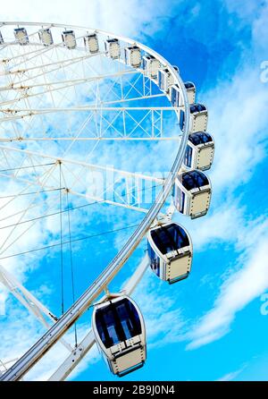
<svg viewBox="0 0 268 399"><path fill-rule="evenodd" d="M137 0L78 0L66 4L64 0L44 3L37 0L19 0L4 4L2 21L39 21L80 25L108 30L124 36L139 37L143 33L152 34L163 27L163 21L172 16L174 7L167 1L143 2Z"/></svg>

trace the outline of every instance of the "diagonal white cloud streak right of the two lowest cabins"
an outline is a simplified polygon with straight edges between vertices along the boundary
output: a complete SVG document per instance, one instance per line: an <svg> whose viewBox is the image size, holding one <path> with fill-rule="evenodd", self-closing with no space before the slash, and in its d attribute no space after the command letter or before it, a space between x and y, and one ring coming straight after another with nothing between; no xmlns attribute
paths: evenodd
<svg viewBox="0 0 268 399"><path fill-rule="evenodd" d="M248 226L246 235L243 234L241 238L247 245L247 250L245 249L240 259L240 268L222 284L213 309L188 333L188 339L191 340L188 349L196 349L227 334L236 313L267 289L267 225L268 222L265 221L262 225L256 225L255 229Z"/></svg>

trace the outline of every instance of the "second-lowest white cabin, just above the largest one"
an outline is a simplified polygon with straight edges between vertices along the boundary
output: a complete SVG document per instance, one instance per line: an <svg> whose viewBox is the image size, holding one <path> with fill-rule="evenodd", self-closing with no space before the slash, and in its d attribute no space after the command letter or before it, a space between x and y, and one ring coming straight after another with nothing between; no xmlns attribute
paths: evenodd
<svg viewBox="0 0 268 399"><path fill-rule="evenodd" d="M169 284L188 277L193 246L187 231L177 223L157 225L147 233L150 267Z"/></svg>

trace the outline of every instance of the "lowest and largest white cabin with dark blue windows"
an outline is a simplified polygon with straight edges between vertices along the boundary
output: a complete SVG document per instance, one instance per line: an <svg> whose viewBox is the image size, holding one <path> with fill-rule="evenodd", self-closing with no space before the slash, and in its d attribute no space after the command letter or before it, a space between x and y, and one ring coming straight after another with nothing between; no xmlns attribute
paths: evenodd
<svg viewBox="0 0 268 399"><path fill-rule="evenodd" d="M147 357L145 323L127 295L113 295L94 307L96 344L113 374L122 377L143 366Z"/></svg>

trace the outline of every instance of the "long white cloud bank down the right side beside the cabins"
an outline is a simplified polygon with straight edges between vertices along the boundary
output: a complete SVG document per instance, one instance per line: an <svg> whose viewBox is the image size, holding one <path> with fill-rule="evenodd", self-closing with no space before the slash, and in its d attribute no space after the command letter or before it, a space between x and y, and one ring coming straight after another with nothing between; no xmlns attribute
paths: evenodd
<svg viewBox="0 0 268 399"><path fill-rule="evenodd" d="M255 36L266 26L266 13L264 8L255 18ZM259 47L252 51L259 51ZM253 69L246 61L231 81L205 93L205 98L213 110L209 130L214 133L216 143L211 174L214 200L212 214L205 217L204 223L197 224L194 242L199 249L209 243L231 241L241 255L232 260L232 269L213 308L186 335L190 340L188 349L209 344L227 334L236 313L268 287L267 221L265 216L248 221L238 198L238 188L243 191L255 167L266 156L267 88L260 81L258 66Z"/></svg>

